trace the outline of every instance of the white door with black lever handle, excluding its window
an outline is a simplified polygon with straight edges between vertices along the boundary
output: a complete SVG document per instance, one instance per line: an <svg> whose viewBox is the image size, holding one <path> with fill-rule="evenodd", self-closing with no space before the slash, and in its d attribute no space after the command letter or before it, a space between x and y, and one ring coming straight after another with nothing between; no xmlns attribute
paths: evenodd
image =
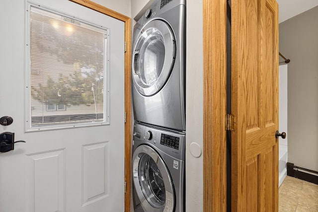
<svg viewBox="0 0 318 212"><path fill-rule="evenodd" d="M1 1L0 117L14 150L0 152L0 212L124 211L124 23L68 0L34 0L109 32L109 124L25 132L27 3ZM27 103L26 103L27 104Z"/></svg>

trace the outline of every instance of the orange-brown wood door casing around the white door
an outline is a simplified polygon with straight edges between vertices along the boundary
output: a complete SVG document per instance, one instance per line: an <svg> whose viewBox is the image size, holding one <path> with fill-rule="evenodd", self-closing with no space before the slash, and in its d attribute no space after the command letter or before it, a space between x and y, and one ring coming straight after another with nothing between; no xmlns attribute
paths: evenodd
<svg viewBox="0 0 318 212"><path fill-rule="evenodd" d="M89 0L70 0L125 23L125 212L130 212L131 202L131 18ZM124 51L124 44L123 44ZM124 114L123 114L124 119Z"/></svg>

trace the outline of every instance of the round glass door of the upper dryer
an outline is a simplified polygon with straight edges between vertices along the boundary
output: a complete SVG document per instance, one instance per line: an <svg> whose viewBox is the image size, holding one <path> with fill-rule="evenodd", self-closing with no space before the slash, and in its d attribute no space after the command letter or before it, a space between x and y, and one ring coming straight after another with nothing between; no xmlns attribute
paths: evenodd
<svg viewBox="0 0 318 212"><path fill-rule="evenodd" d="M164 21L147 23L137 36L132 59L133 82L145 96L154 95L165 84L175 60L175 38Z"/></svg>

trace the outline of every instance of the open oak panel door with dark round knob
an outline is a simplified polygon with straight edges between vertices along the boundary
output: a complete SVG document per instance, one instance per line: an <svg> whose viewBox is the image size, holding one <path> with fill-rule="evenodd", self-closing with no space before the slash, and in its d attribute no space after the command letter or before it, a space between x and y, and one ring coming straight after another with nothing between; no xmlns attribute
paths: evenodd
<svg viewBox="0 0 318 212"><path fill-rule="evenodd" d="M232 211L278 211L278 5L232 0Z"/></svg>

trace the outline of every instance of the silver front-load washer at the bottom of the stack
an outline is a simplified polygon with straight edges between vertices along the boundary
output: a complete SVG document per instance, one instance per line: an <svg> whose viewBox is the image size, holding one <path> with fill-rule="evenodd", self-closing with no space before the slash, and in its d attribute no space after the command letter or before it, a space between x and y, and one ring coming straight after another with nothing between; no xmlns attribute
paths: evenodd
<svg viewBox="0 0 318 212"><path fill-rule="evenodd" d="M135 123L135 212L184 212L185 134Z"/></svg>

